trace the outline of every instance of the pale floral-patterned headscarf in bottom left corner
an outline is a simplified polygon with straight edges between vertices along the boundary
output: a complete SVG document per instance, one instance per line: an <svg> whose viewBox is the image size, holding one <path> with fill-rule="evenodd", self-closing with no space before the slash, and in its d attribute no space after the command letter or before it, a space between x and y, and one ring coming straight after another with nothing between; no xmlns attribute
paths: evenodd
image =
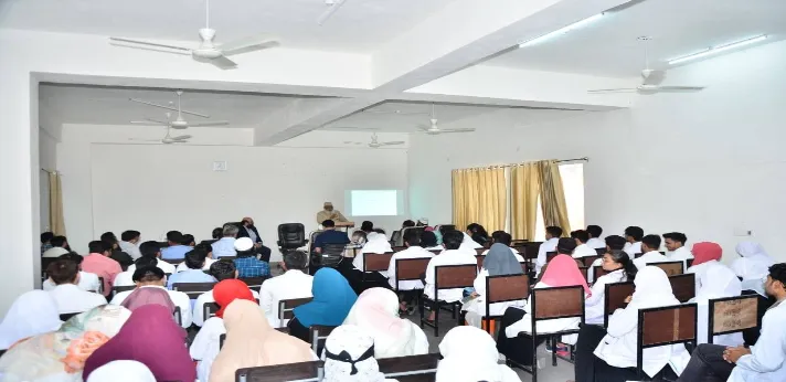
<svg viewBox="0 0 786 382"><path fill-rule="evenodd" d="M102 305L76 315L57 331L20 342L0 358L3 381L82 382L87 358L128 320L130 310Z"/></svg>

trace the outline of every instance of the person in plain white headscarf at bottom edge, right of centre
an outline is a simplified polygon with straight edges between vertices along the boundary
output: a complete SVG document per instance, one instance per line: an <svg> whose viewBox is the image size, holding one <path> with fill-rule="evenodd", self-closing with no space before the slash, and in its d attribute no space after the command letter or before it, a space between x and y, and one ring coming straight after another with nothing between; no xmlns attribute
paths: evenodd
<svg viewBox="0 0 786 382"><path fill-rule="evenodd" d="M437 365L436 382L521 382L513 370L499 364L493 338L478 328L450 329L439 342L439 353L443 359Z"/></svg>

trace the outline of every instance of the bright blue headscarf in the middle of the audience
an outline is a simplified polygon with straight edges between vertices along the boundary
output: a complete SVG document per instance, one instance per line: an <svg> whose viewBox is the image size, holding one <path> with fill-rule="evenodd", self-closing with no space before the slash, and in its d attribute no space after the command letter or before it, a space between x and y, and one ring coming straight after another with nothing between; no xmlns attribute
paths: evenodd
<svg viewBox="0 0 786 382"><path fill-rule="evenodd" d="M295 318L308 328L314 325L337 327L343 322L358 299L347 279L333 268L321 268L311 284L314 299L295 308Z"/></svg>

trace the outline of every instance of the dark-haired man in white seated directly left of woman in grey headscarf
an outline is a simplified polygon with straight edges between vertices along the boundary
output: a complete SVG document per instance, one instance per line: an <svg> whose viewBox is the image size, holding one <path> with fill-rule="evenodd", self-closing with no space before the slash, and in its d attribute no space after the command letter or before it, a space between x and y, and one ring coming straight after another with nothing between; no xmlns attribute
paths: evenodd
<svg viewBox="0 0 786 382"><path fill-rule="evenodd" d="M478 264L475 256L468 254L467 252L459 251L461 246L461 241L464 241L464 233L459 231L448 231L443 235L443 245L445 246L445 252L440 253L438 256L432 257L426 266L426 278L425 286L423 288L423 294L431 299L439 299L446 303L455 303L460 300L464 296L464 288L454 289L442 289L437 296L434 289L434 282L436 282L436 267L440 265L461 265L461 264ZM428 316L429 321L434 321L435 312Z"/></svg>

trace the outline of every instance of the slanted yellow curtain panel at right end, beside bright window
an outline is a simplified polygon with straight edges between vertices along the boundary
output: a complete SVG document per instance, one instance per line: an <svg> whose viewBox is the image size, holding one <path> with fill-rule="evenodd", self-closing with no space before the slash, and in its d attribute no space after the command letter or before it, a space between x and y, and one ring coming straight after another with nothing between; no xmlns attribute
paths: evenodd
<svg viewBox="0 0 786 382"><path fill-rule="evenodd" d="M557 225L562 232L570 233L571 224L567 220L567 204L565 191L562 188L560 167L555 160L541 160L537 162L540 170L541 210L543 223L546 226Z"/></svg>

